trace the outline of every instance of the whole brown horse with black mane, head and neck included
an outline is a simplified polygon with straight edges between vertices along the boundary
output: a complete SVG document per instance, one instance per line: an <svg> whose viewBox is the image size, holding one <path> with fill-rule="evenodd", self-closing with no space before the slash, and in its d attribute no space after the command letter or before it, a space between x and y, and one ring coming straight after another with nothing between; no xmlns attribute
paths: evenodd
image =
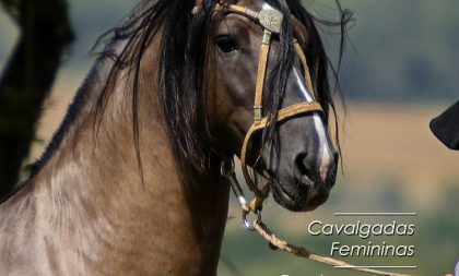
<svg viewBox="0 0 459 276"><path fill-rule="evenodd" d="M2 201L2 275L215 275L233 156L281 206L322 204L339 151L317 22L296 0L142 1Z"/></svg>

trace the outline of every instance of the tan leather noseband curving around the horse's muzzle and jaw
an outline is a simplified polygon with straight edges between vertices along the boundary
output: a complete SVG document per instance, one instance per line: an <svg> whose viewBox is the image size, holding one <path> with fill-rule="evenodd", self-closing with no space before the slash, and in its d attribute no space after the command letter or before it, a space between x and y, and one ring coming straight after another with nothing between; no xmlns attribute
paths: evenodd
<svg viewBox="0 0 459 276"><path fill-rule="evenodd" d="M278 113L278 120L276 122L284 121L293 116L307 113L307 112L323 112L321 106L317 101L304 101L299 103L286 108L283 108ZM240 151L240 165L243 169L244 179L246 180L246 183L250 191L252 191L257 196L266 199L268 194L263 193L258 189L257 184L251 180L250 175L247 169L246 164L246 155L247 155L247 147L250 142L251 136L255 132L264 129L268 125L269 118L264 117L260 120L258 123L254 123L250 129L248 130L246 137L244 139L243 149Z"/></svg>

